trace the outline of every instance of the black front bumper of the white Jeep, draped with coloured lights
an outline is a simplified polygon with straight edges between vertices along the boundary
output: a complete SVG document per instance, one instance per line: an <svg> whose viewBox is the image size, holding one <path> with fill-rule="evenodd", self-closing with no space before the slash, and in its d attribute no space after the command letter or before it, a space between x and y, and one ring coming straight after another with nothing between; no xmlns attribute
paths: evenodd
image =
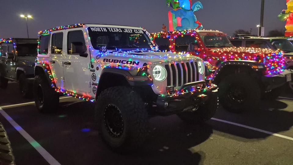
<svg viewBox="0 0 293 165"><path fill-rule="evenodd" d="M194 86L201 86L201 89L194 89ZM206 85L206 82L199 81L183 85L173 94L159 95L157 98L157 110L159 115L172 115L183 111L192 111L204 102L208 101L212 94L218 94L218 86L214 84Z"/></svg>

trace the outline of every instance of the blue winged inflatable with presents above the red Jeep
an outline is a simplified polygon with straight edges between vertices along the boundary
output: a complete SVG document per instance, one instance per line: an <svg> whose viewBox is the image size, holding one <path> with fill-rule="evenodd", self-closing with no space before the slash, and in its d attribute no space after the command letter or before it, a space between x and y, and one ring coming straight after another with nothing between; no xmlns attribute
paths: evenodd
<svg viewBox="0 0 293 165"><path fill-rule="evenodd" d="M203 9L201 2L192 5L191 0L167 0L167 5L173 10L169 11L169 30L203 29L202 24L194 15L195 11Z"/></svg>

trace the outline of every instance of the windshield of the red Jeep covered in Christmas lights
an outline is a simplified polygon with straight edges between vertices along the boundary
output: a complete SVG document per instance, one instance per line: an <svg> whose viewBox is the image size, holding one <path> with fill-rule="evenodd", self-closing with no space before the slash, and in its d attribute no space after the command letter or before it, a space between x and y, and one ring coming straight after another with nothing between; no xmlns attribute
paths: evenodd
<svg viewBox="0 0 293 165"><path fill-rule="evenodd" d="M223 33L199 32L199 35L207 48L233 47Z"/></svg>

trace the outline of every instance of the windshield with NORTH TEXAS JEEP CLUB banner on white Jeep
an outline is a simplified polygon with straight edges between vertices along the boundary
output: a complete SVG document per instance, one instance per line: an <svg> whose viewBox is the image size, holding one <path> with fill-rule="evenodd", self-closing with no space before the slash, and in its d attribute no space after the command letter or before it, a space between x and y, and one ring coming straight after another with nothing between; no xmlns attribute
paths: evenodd
<svg viewBox="0 0 293 165"><path fill-rule="evenodd" d="M108 50L119 48L148 48L152 42L145 31L125 28L88 28L92 47L99 50L101 46L107 46Z"/></svg>

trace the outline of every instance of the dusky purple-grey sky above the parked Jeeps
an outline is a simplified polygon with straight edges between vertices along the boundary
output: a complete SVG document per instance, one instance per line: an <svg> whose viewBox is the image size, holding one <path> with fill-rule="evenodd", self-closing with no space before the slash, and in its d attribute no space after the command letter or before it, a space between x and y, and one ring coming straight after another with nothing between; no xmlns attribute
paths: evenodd
<svg viewBox="0 0 293 165"><path fill-rule="evenodd" d="M76 23L117 24L138 26L149 32L161 31L168 24L171 9L165 0L0 0L0 38L26 38L25 19L20 14L31 14L28 20L30 38L38 31ZM196 2L196 1L193 1ZM205 29L220 30L232 35L237 29L257 32L260 22L261 0L200 0L204 9L195 12ZM286 9L286 0L265 0L264 26L283 30L285 22L277 15Z"/></svg>

